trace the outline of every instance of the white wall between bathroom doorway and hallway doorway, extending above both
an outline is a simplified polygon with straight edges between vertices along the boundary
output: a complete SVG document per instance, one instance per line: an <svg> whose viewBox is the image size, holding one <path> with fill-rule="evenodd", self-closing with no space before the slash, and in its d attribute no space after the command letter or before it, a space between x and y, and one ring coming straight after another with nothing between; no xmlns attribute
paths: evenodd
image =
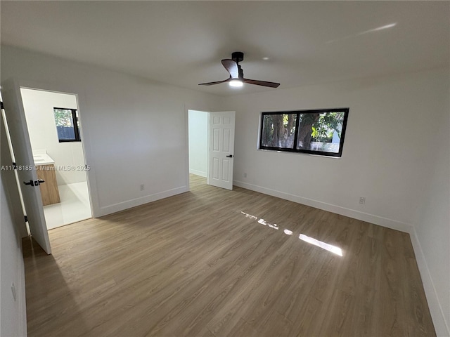
<svg viewBox="0 0 450 337"><path fill-rule="evenodd" d="M2 46L1 79L8 77L78 95L94 216L186 192L187 110L217 110L221 102L215 95Z"/></svg>

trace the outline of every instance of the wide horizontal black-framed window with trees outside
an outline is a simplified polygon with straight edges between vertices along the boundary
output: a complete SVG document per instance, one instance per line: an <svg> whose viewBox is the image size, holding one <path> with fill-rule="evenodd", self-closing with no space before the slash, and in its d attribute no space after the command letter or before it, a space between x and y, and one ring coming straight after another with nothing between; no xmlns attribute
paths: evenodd
<svg viewBox="0 0 450 337"><path fill-rule="evenodd" d="M262 112L259 149L341 157L349 108Z"/></svg>

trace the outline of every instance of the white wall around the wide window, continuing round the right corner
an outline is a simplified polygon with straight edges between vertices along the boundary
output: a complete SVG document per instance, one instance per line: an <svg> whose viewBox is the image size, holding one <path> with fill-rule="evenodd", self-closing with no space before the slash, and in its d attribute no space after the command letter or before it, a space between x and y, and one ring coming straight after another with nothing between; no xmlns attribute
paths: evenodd
<svg viewBox="0 0 450 337"><path fill-rule="evenodd" d="M435 282L436 292L427 296L439 336L449 333L442 317L450 322L448 100L448 69L226 100L226 109L236 110L235 185L405 232L417 229L425 289L428 277ZM260 112L327 107L350 108L341 159L257 150Z"/></svg>

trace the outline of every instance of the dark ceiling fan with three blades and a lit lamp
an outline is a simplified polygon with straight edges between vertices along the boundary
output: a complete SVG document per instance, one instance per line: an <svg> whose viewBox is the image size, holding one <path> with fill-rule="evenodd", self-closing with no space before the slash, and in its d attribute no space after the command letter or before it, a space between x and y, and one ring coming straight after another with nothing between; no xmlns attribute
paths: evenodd
<svg viewBox="0 0 450 337"><path fill-rule="evenodd" d="M244 53L240 51L235 51L231 54L231 59L226 58L221 60L222 65L230 73L230 77L224 81L207 82L200 83L199 86L212 86L213 84L220 84L229 82L230 86L243 86L244 83L255 84L257 86L269 86L270 88L278 88L279 83L267 82L267 81L257 81L256 79L245 79L242 67L240 67L239 62L244 59Z"/></svg>

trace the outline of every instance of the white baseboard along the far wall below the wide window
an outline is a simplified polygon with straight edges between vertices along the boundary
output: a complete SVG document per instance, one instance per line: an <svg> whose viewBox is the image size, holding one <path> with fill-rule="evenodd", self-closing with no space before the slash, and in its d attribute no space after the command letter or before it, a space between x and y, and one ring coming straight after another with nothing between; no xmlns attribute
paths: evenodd
<svg viewBox="0 0 450 337"><path fill-rule="evenodd" d="M304 204L307 206L315 207L316 209L323 209L324 211L329 211L332 213L338 213L341 216L348 216L349 218L354 218L357 220L366 221L368 223L373 223L375 225L380 225L383 227L391 228L392 230L399 230L401 232L409 233L411 232L413 226L409 225L408 223L401 223L397 220L392 220L389 218L383 218L381 216L375 216L373 214L364 213L361 211L355 211L354 209L347 209L342 206L336 206L333 204L327 204L323 201L317 201L313 199L308 199L304 197L300 197L298 195L289 194L277 190L271 190L266 187L258 186L258 185L252 185L248 183L244 183L242 181L234 180L233 185L238 187L246 188L247 190L252 190L264 194L269 194L273 197L278 197L281 199L294 201L299 204Z"/></svg>

